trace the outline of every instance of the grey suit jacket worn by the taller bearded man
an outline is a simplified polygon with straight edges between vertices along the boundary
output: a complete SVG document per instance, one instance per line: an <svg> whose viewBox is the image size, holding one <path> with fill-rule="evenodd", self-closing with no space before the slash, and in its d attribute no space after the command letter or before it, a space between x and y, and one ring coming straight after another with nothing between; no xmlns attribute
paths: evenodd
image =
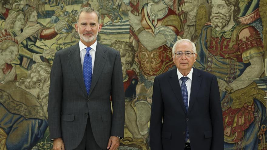
<svg viewBox="0 0 267 150"><path fill-rule="evenodd" d="M96 143L106 149L111 135L123 137L124 110L120 52L97 43L89 95L83 82L79 43L56 52L47 109L51 139L61 137L66 150L76 148L89 115Z"/></svg>

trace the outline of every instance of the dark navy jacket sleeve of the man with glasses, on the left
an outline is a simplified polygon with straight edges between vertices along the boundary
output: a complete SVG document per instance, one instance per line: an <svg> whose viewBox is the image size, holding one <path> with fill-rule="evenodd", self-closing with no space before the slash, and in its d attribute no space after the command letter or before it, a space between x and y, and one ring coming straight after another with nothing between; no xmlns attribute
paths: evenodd
<svg viewBox="0 0 267 150"><path fill-rule="evenodd" d="M154 79L152 105L151 105L151 116L150 116L150 148L153 150L162 150L161 140L161 128L163 118L163 100L161 96L161 88L156 77Z"/></svg>

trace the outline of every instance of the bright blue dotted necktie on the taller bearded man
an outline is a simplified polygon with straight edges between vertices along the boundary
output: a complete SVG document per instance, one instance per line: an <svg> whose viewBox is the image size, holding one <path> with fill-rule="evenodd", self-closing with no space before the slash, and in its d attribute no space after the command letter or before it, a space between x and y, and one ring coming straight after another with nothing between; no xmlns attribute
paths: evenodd
<svg viewBox="0 0 267 150"><path fill-rule="evenodd" d="M83 60L83 81L88 95L91 88L92 72L93 72L92 57L89 53L90 50L91 50L90 47L86 48L86 54Z"/></svg>

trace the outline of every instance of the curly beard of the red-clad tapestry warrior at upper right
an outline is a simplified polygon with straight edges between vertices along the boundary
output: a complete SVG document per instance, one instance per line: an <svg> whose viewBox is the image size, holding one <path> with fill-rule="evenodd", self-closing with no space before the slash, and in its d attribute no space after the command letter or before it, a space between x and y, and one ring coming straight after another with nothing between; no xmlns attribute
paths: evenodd
<svg viewBox="0 0 267 150"><path fill-rule="evenodd" d="M211 13L211 26L213 27L213 28L219 28L220 30L222 29L222 28L224 28L226 25L228 25L229 24L229 22L230 22L230 19L231 19L231 12L230 12L230 10L228 10L227 12L226 12L226 14L222 14L222 13ZM216 20L215 19L215 17L219 17L219 19L218 20Z"/></svg>

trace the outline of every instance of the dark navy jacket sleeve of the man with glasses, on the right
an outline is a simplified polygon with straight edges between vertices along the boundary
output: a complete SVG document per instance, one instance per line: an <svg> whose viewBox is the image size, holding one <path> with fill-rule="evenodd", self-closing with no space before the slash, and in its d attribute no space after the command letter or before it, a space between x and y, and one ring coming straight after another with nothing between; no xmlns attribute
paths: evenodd
<svg viewBox="0 0 267 150"><path fill-rule="evenodd" d="M220 92L215 75L211 82L209 110L212 124L211 150L223 150L224 129L221 110Z"/></svg>

